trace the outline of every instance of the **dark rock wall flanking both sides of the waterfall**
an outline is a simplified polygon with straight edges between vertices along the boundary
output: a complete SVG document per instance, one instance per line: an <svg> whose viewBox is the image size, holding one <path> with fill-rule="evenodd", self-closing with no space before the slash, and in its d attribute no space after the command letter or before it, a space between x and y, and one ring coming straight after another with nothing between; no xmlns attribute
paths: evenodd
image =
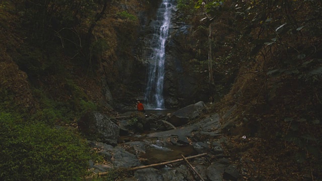
<svg viewBox="0 0 322 181"><path fill-rule="evenodd" d="M117 69L117 82L119 83L118 86L110 86L112 96L116 99L109 98L109 100L115 100L111 104L113 107L116 105L122 107L120 105L123 104L122 109L124 109L127 103L134 103L135 99L144 96L148 65L146 59L152 53L150 47L154 43L152 41L154 25L160 23L156 20L156 10L160 3L162 3L160 0L150 2L147 8L137 11L139 22L135 30L137 37L131 42L131 46L122 47L117 51L118 59L114 68ZM175 4L175 1L173 3ZM187 38L191 37L191 27L179 21L179 16L178 12L173 12L170 37L166 45L164 98L166 108L173 109L208 99L208 90L205 88L207 83L192 72L193 68L189 67L188 60L183 56L184 53L191 53L187 48L187 44L191 44L191 38ZM124 50L124 48L128 49Z"/></svg>

